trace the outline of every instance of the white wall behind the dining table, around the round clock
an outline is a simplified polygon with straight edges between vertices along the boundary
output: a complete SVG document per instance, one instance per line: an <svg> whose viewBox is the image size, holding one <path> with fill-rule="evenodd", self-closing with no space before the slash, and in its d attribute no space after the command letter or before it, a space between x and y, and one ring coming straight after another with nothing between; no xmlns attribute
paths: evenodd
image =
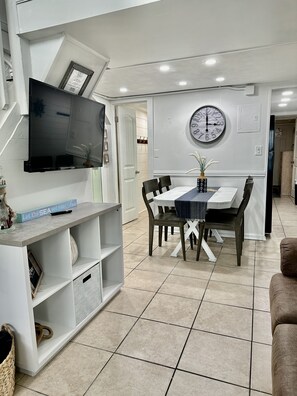
<svg viewBox="0 0 297 396"><path fill-rule="evenodd" d="M222 139L209 145L195 142L189 134L189 120L203 105L214 105L226 115L226 131ZM248 106L246 106L248 105ZM239 106L251 111L252 124L257 131L239 133L245 118L238 115ZM246 96L244 90L214 89L156 96L154 98L154 176L170 174L176 185L195 185L197 174L186 171L196 163L189 154L199 151L208 159L219 161L206 172L208 185L237 186L237 204L248 175L255 185L246 212L246 237L263 239L265 223L267 138L269 126L270 89L257 87L256 95ZM255 107L255 109L253 109ZM249 129L249 128L248 128ZM253 129L253 128L250 128ZM262 155L255 155L255 146L262 147Z"/></svg>

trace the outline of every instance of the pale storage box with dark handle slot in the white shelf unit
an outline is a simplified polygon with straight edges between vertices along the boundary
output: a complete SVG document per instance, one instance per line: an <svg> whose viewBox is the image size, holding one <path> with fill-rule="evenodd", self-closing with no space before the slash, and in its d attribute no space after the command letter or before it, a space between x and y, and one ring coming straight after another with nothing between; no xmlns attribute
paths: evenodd
<svg viewBox="0 0 297 396"><path fill-rule="evenodd" d="M76 324L101 304L100 267L96 264L73 281Z"/></svg>

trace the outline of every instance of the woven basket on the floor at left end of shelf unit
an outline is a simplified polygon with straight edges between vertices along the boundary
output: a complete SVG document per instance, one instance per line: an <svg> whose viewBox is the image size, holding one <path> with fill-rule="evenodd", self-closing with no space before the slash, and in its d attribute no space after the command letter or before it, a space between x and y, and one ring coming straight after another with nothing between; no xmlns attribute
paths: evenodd
<svg viewBox="0 0 297 396"><path fill-rule="evenodd" d="M15 345L14 336L10 327L6 324L1 330L7 331L12 338L11 349L7 357L0 364L0 396L12 396L15 386Z"/></svg>

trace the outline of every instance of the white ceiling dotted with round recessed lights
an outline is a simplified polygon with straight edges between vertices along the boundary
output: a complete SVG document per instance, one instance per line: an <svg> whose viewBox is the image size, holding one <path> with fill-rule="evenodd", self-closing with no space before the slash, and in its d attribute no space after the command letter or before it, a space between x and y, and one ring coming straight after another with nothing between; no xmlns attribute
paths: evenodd
<svg viewBox="0 0 297 396"><path fill-rule="evenodd" d="M95 87L110 99L218 85L297 86L296 0L160 0L26 37L58 32L110 59ZM204 64L209 56L216 65ZM159 66L165 63L170 70L161 73ZM217 83L218 76L225 81ZM187 85L180 87L180 80ZM273 92L272 103L277 95ZM279 112L277 106L273 109ZM296 95L291 111L297 114Z"/></svg>

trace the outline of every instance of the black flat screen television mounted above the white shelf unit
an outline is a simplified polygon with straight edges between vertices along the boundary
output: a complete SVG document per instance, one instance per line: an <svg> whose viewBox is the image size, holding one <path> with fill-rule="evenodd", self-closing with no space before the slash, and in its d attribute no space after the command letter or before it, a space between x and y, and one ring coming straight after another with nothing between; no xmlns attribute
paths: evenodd
<svg viewBox="0 0 297 396"><path fill-rule="evenodd" d="M105 105L30 78L26 172L102 166Z"/></svg>

